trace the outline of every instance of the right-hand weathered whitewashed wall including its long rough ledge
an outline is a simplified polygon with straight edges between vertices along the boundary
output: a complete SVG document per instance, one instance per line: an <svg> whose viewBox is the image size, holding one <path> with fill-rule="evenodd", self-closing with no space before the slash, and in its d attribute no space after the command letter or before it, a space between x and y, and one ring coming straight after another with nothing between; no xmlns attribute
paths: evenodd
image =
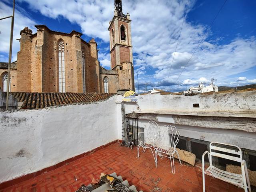
<svg viewBox="0 0 256 192"><path fill-rule="evenodd" d="M140 127L154 120L160 128L176 126L180 136L197 140L202 136L205 141L256 150L256 91L196 96L148 94L136 98L137 103L125 102L125 112L139 114ZM193 103L200 107L193 108Z"/></svg>

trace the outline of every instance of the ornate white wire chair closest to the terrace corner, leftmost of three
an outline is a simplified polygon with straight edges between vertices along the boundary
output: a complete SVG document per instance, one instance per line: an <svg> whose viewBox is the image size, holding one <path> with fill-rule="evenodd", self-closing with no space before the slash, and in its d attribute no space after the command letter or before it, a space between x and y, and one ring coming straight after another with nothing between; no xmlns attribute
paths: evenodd
<svg viewBox="0 0 256 192"><path fill-rule="evenodd" d="M144 134L144 140L140 141L139 136L142 133ZM160 128L159 128L158 124L154 121L149 121L146 124L146 126L144 126L144 132L139 132L138 133L138 142L139 142L139 144L138 144L138 158L140 157L139 149L140 149L140 147L142 147L143 148L143 150L142 150L143 153L145 152L145 150L147 148L150 148L150 150L152 151L154 160L155 160L154 137L156 135L159 135L159 133L160 133ZM153 150L154 150L154 152L153 152Z"/></svg>

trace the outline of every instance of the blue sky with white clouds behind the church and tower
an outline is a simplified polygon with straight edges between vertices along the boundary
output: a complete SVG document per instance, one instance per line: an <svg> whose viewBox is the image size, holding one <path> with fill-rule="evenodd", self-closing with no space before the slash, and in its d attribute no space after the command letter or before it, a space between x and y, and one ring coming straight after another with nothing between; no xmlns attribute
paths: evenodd
<svg viewBox="0 0 256 192"><path fill-rule="evenodd" d="M145 86L181 91L207 85L211 78L218 86L256 83L256 1L224 2L122 1L123 13L132 20L137 92ZM12 1L0 0L0 18L11 14ZM44 24L55 31L82 32L87 42L95 38L100 65L110 69L108 23L113 15L114 0L16 0L12 61L20 49L20 30L28 26L35 33L34 25ZM0 62L8 62L10 24L10 18L0 20Z"/></svg>

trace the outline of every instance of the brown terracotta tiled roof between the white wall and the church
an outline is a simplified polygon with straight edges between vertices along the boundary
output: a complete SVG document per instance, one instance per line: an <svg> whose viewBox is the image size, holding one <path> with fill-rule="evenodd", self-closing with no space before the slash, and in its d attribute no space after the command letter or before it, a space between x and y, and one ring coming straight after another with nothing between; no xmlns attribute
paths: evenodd
<svg viewBox="0 0 256 192"><path fill-rule="evenodd" d="M48 106L56 106L72 103L90 103L102 101L115 95L114 93L25 93L11 92L23 102L21 109L39 109Z"/></svg>

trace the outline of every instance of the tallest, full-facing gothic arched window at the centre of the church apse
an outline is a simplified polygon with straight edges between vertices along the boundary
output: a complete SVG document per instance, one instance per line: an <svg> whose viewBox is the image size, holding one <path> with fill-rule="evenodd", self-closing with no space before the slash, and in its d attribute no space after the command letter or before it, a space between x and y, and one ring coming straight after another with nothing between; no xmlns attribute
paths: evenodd
<svg viewBox="0 0 256 192"><path fill-rule="evenodd" d="M58 55L59 55L59 92L66 92L65 89L65 52L64 42L62 40L58 43Z"/></svg>

